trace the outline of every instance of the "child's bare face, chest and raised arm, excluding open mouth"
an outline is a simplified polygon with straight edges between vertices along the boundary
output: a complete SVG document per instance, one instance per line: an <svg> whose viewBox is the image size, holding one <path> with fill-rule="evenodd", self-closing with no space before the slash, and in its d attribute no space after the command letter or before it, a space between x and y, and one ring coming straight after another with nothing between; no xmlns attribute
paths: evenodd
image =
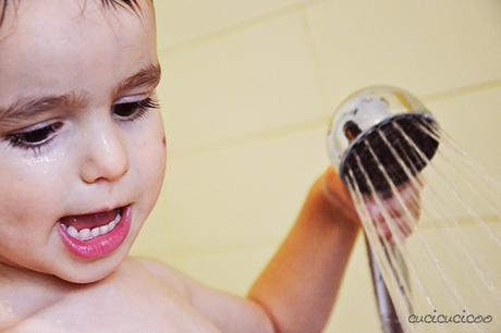
<svg viewBox="0 0 501 333"><path fill-rule="evenodd" d="M158 84L155 71L130 79L158 63L154 10L138 2L137 15L97 0L22 0L0 28L0 329L321 332L359 225L331 169L246 298L127 257L166 165L161 113L130 107ZM66 97L29 111L26 100L47 96ZM62 219L125 205L117 248L83 258L64 245Z"/></svg>

